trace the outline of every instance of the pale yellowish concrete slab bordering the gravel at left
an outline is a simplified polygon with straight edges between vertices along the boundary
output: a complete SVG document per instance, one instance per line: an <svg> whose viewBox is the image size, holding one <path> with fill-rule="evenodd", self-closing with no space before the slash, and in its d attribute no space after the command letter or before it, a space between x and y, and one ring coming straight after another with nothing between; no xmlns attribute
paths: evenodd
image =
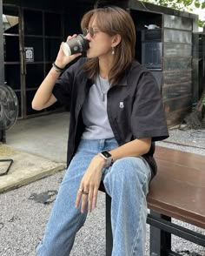
<svg viewBox="0 0 205 256"><path fill-rule="evenodd" d="M65 168L64 164L22 152L7 145L0 146L0 159L2 158L6 160L10 158L13 163L10 165L8 161L0 161L0 170L8 171L6 175L0 176L0 193L27 185Z"/></svg>

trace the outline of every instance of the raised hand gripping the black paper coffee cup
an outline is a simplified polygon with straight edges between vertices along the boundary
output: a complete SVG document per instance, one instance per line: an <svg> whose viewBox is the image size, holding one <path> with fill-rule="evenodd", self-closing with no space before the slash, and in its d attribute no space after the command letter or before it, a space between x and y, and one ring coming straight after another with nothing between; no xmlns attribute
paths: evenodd
<svg viewBox="0 0 205 256"><path fill-rule="evenodd" d="M77 37L77 35L73 35L72 37L69 36L67 37L67 42L74 38L74 37ZM73 54L73 55L70 55L70 56L66 56L63 52L63 44L61 44L60 46L60 50L58 51L58 54L57 54L57 57L56 57L56 61L55 61L55 64L60 67L60 68L64 68L67 64L69 64L71 61L73 61L76 57L79 57L82 55L82 53L76 53L76 54Z"/></svg>

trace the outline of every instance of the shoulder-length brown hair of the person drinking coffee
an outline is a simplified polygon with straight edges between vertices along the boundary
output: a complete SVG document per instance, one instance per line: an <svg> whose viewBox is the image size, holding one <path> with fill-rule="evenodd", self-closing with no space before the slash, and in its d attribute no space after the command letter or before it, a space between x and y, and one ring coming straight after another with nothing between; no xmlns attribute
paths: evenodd
<svg viewBox="0 0 205 256"><path fill-rule="evenodd" d="M119 34L121 42L115 48L113 67L109 72L109 83L120 82L135 57L136 29L132 18L126 10L116 6L109 6L89 10L82 19L81 28L88 28L92 17L97 17L96 25L109 36ZM89 73L91 79L95 79L99 72L98 58L90 58L83 65L84 71Z"/></svg>

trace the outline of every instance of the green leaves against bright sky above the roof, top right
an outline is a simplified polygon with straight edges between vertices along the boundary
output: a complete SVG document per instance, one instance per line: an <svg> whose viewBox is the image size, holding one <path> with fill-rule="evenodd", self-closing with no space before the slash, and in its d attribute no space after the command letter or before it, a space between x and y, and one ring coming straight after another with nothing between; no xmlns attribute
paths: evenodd
<svg viewBox="0 0 205 256"><path fill-rule="evenodd" d="M175 10L194 12L195 9L204 9L205 1L202 0L142 0L143 2L155 3ZM205 21L199 20L199 26L205 25Z"/></svg>

